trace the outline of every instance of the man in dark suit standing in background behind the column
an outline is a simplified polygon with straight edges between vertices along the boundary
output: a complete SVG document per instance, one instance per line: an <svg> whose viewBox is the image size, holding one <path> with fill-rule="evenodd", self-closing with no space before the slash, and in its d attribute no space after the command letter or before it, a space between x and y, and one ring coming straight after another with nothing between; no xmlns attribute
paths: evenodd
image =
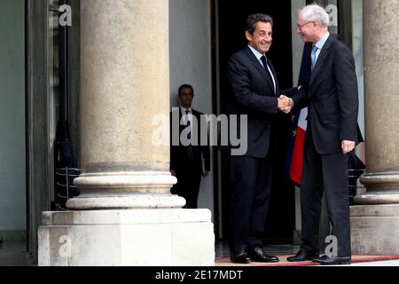
<svg viewBox="0 0 399 284"><path fill-rule="evenodd" d="M184 197L186 201L185 208L197 209L197 200L200 193L201 176L207 177L210 170L210 150L209 145L200 145L200 123L201 113L192 109L192 99L194 90L191 85L184 84L179 88L178 98L180 101L179 122L184 118L184 125L171 125L179 127L181 132L190 127L192 129L192 115L197 119L198 125L198 143L195 145L183 146L179 139L178 146L171 146L170 151L170 171L177 178L177 184L173 186L172 193ZM202 120L203 122L203 120ZM172 132L173 133L173 132ZM189 134L191 136L192 133ZM194 138L192 135L190 138ZM203 159L203 160L202 160Z"/></svg>

